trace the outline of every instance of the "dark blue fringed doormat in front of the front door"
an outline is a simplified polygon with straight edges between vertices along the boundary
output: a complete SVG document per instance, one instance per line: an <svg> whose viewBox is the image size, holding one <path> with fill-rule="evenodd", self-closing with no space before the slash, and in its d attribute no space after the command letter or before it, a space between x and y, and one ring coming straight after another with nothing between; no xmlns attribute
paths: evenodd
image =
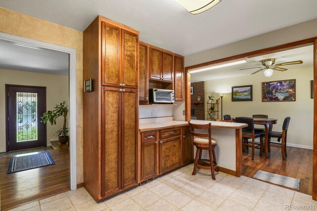
<svg viewBox="0 0 317 211"><path fill-rule="evenodd" d="M55 164L49 152L10 158L8 174Z"/></svg>

